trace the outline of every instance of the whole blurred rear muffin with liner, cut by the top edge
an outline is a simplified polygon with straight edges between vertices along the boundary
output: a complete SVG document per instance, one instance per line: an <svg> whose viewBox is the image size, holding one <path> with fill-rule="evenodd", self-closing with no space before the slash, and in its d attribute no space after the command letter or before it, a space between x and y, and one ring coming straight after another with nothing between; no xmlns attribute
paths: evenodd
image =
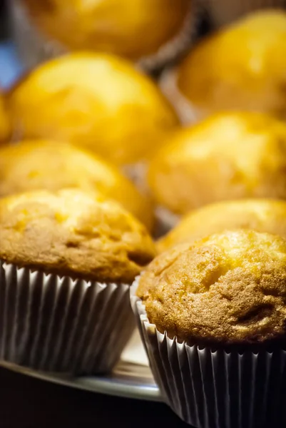
<svg viewBox="0 0 286 428"><path fill-rule="evenodd" d="M103 51L139 61L148 68L175 58L190 45L190 0L93 0L88 5L83 0L13 3L16 39L22 54L25 56L27 51L31 58L29 65L45 58L45 44L54 45L55 54L83 49ZM48 51L51 53L51 49Z"/></svg>

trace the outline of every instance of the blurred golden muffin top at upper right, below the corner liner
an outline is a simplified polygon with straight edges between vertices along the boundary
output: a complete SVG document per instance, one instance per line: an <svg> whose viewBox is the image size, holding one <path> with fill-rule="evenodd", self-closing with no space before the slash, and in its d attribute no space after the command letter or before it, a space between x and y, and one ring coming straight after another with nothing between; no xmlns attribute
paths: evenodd
<svg viewBox="0 0 286 428"><path fill-rule="evenodd" d="M203 40L178 88L203 115L250 110L286 117L286 12L258 11Z"/></svg>

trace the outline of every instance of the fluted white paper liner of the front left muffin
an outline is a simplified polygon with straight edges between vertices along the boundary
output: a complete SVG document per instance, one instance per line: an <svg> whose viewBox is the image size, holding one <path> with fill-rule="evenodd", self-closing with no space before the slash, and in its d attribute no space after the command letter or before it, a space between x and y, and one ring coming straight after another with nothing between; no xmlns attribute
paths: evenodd
<svg viewBox="0 0 286 428"><path fill-rule="evenodd" d="M49 372L109 372L134 329L129 288L0 261L0 360Z"/></svg>

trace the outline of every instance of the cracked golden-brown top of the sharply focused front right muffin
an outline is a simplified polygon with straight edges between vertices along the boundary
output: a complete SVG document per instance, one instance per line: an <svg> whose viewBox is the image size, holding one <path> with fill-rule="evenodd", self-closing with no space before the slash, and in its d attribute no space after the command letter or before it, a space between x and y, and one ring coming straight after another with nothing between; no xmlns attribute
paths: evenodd
<svg viewBox="0 0 286 428"><path fill-rule="evenodd" d="M239 230L178 245L150 263L137 294L150 322L180 340L285 338L286 241Z"/></svg>

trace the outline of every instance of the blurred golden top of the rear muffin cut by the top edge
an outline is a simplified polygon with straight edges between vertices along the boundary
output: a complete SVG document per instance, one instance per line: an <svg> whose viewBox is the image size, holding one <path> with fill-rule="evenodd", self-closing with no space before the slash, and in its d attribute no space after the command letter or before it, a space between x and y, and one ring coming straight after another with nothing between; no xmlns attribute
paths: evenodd
<svg viewBox="0 0 286 428"><path fill-rule="evenodd" d="M69 49L136 60L154 54L182 28L189 0L24 0L48 36Z"/></svg>

